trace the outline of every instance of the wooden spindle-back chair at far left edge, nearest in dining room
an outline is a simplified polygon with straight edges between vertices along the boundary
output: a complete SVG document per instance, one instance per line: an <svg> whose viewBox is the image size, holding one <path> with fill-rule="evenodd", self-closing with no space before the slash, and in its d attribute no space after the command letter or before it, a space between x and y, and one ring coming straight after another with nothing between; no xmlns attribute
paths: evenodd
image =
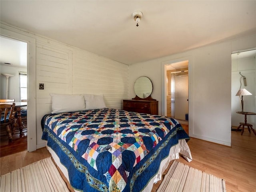
<svg viewBox="0 0 256 192"><path fill-rule="evenodd" d="M0 127L6 128L9 142L12 142L12 134L14 132L14 111L15 103L12 104L0 104L1 122Z"/></svg>

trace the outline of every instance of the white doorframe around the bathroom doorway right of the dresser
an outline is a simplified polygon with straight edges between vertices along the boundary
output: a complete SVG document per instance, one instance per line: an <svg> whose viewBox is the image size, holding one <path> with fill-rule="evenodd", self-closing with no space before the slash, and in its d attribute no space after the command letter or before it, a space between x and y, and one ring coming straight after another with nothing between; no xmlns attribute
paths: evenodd
<svg viewBox="0 0 256 192"><path fill-rule="evenodd" d="M193 134L193 58L192 56L182 57L173 60L167 60L161 62L161 98L162 98L162 115L166 116L166 65L174 64L188 60L188 124L189 124L189 135Z"/></svg>

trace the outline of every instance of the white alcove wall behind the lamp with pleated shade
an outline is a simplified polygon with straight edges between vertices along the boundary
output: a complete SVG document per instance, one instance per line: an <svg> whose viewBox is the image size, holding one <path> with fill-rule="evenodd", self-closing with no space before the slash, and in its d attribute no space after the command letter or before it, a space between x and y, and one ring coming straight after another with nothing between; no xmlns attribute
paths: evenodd
<svg viewBox="0 0 256 192"><path fill-rule="evenodd" d="M244 122L244 115L237 114L236 111L242 111L240 107L240 98L236 96L237 91L240 88L240 77L242 77L239 72L243 76L246 77L247 86L244 86L243 79L241 80L242 86L241 88L245 88L252 95L244 96L244 111L246 112L256 112L254 106L255 100L255 91L256 91L256 79L255 79L255 68L256 61L255 58L244 58L238 60L232 60L232 114L231 114L231 125L239 126L239 122ZM247 122L252 124L255 128L255 116L248 115Z"/></svg>

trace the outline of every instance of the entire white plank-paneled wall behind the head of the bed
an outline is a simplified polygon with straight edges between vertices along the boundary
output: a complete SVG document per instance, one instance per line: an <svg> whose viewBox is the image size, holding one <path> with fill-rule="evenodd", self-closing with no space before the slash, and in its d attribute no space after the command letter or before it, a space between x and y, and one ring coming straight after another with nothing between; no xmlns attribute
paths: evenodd
<svg viewBox="0 0 256 192"><path fill-rule="evenodd" d="M35 86L28 88L29 92L32 91L36 95L36 105L31 106L30 100L33 100L34 96L33 93L28 94L28 119L36 123L36 127L29 128L28 132L36 129L36 148L45 146L45 142L41 140L40 121L44 114L51 112L51 92L104 94L107 107L122 108L122 99L128 98L128 65L14 28L8 24L1 23L0 27L1 34L4 31L5 36L12 37L15 33L36 40L35 50L32 50L28 56L28 58L36 58L35 62L28 63L28 71L34 70L33 74L28 74L28 79L30 75L36 74ZM44 83L44 90L39 90L39 83ZM31 108L35 108L35 119L30 118ZM30 140L29 136L28 140Z"/></svg>

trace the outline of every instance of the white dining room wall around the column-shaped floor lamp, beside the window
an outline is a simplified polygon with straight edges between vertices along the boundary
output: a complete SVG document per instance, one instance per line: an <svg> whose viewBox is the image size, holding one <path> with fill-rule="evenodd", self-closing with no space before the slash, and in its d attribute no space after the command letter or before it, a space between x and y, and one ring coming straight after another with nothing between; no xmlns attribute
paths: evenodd
<svg viewBox="0 0 256 192"><path fill-rule="evenodd" d="M0 65L0 73L12 74L8 80L8 98L6 98L6 76L0 76L0 98L1 99L15 99L20 102L20 76L19 71L26 72L26 68L18 68L14 66Z"/></svg>

